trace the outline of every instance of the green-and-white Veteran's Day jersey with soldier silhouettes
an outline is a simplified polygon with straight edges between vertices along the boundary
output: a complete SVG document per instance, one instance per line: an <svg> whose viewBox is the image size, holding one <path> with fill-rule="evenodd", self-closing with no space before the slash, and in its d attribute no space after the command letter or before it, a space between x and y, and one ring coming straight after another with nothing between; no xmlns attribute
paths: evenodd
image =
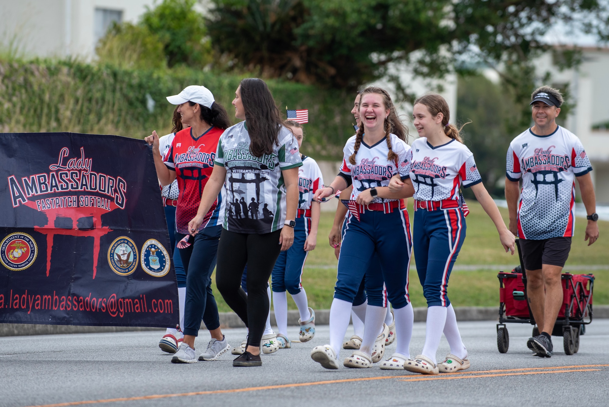
<svg viewBox="0 0 609 407"><path fill-rule="evenodd" d="M270 233L286 221L286 185L281 170L303 165L298 141L281 127L273 153L255 157L245 121L228 127L220 136L214 164L227 169L223 226L238 233Z"/></svg>

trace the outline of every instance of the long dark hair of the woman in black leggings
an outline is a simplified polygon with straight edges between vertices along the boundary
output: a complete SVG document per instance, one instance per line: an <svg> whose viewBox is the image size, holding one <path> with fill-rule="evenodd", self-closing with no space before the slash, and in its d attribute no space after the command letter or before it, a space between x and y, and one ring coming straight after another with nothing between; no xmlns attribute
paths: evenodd
<svg viewBox="0 0 609 407"><path fill-rule="evenodd" d="M250 153L255 157L272 154L273 144L279 145L278 135L283 125L275 99L262 79L245 78L239 86L250 133Z"/></svg>

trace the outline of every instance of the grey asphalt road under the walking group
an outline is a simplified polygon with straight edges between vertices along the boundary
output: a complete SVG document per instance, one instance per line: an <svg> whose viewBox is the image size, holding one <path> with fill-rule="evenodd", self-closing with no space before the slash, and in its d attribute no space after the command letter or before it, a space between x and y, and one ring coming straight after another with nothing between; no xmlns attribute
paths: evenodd
<svg viewBox="0 0 609 407"><path fill-rule="evenodd" d="M471 369L438 376L378 367L325 370L309 352L327 342L327 326L317 327L311 342L265 355L262 367L249 368L232 367L234 356L228 353L215 362L172 364L171 356L158 348L161 333L155 331L5 337L0 338L0 406L83 405L91 400L129 407L609 405L609 319L588 325L573 356L565 355L562 338L554 337L559 352L544 359L531 356L526 347L529 325L509 325L505 354L497 350L494 322L461 322L460 329ZM289 332L296 338L297 327ZM245 330L225 334L235 345ZM197 349L204 349L208 333L201 331L199 338ZM424 324L416 323L413 355L423 341ZM388 352L393 349L395 344ZM442 339L438 358L447 352ZM203 394L188 394L192 392ZM146 397L150 395L157 397ZM104 401L112 398L127 400Z"/></svg>

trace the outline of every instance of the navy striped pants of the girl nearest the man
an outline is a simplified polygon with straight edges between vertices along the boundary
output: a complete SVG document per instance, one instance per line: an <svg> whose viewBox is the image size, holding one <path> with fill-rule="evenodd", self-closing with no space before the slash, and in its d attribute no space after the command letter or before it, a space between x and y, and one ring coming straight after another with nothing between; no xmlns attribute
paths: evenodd
<svg viewBox="0 0 609 407"><path fill-rule="evenodd" d="M415 211L413 235L417 274L427 306L449 306L448 278L465 241L460 208Z"/></svg>

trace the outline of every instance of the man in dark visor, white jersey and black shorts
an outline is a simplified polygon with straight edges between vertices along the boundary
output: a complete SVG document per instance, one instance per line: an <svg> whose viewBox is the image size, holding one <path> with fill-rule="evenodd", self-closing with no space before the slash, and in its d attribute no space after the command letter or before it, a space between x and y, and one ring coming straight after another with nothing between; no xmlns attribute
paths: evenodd
<svg viewBox="0 0 609 407"><path fill-rule="evenodd" d="M518 235L529 305L540 334L529 338L535 356L551 357L551 334L563 302L561 272L575 230L575 183L588 213L585 240L599 237L590 160L576 135L556 124L563 96L549 86L531 96L533 127L507 150L505 199L510 231ZM519 182L522 189L519 190Z"/></svg>

